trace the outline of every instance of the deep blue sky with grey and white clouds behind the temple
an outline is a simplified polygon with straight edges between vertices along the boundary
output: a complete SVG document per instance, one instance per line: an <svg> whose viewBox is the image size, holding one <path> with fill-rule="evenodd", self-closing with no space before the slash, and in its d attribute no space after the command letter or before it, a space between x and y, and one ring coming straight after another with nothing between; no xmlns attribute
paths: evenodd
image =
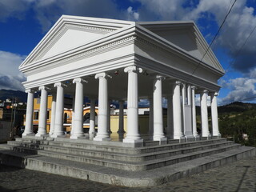
<svg viewBox="0 0 256 192"><path fill-rule="evenodd" d="M62 14L191 21L210 44L235 0L0 0L0 90L24 90L18 66ZM237 0L211 46L226 74L218 105L256 102L256 0Z"/></svg>

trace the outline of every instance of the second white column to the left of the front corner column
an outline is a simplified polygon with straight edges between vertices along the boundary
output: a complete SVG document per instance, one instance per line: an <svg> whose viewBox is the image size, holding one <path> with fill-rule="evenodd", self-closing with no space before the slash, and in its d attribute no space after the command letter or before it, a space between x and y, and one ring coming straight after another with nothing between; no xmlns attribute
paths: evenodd
<svg viewBox="0 0 256 192"><path fill-rule="evenodd" d="M82 78L74 78L75 102L74 102L74 127L70 138L83 137L83 84Z"/></svg>

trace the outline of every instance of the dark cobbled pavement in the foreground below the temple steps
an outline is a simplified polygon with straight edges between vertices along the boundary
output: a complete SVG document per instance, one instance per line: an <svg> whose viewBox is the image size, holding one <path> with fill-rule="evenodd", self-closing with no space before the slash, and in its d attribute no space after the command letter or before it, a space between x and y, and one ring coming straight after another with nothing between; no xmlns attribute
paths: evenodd
<svg viewBox="0 0 256 192"><path fill-rule="evenodd" d="M110 186L77 178L46 174L34 170L0 166L0 191L256 191L256 157L231 163L190 178L182 178L162 186L129 188Z"/></svg>

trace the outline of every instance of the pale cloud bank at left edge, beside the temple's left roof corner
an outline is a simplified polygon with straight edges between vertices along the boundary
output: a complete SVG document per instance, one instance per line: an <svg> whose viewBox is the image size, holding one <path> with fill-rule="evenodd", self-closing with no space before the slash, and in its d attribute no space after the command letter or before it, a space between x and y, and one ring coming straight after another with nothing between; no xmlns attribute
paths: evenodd
<svg viewBox="0 0 256 192"><path fill-rule="evenodd" d="M24 90L22 82L26 78L18 70L24 58L25 56L0 50L0 89Z"/></svg>

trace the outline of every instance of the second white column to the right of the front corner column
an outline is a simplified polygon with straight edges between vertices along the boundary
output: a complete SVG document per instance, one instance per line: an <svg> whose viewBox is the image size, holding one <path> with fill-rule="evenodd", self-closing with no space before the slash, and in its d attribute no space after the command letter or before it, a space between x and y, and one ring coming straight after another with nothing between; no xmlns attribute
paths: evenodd
<svg viewBox="0 0 256 192"><path fill-rule="evenodd" d="M181 82L175 82L173 93L174 139L182 139Z"/></svg>

